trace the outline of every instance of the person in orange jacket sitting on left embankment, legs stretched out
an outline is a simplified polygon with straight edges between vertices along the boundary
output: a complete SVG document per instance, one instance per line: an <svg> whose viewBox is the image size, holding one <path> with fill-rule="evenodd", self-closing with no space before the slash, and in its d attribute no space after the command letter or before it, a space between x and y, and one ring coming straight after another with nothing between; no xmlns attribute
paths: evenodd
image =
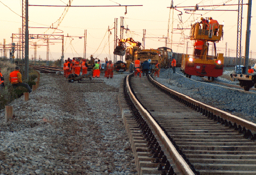
<svg viewBox="0 0 256 175"><path fill-rule="evenodd" d="M15 67L15 70L10 73L9 81L13 87L23 86L28 89L28 92L31 93L32 90L27 83L22 82L22 75L19 72L19 67Z"/></svg>

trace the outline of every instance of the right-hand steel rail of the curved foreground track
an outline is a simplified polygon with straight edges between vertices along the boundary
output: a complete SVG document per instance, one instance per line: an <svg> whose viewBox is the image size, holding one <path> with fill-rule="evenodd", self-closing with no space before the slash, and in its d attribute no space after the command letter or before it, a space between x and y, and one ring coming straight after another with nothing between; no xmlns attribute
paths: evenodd
<svg viewBox="0 0 256 175"><path fill-rule="evenodd" d="M178 93L178 92L176 92L176 91L174 91L172 89L167 88L164 85L161 85L159 82L153 80L153 78L151 76L149 76L149 77L150 77L150 80L153 83L155 83L158 87L160 87L161 89L166 90L167 92L172 93L173 95L176 95L178 98L186 101L187 103L190 103L190 104L193 104L193 105L197 106L197 108L200 109L200 111L203 111L203 110L208 111L210 113L213 113L213 115L216 115L216 116L219 116L221 118L224 118L227 121L230 121L230 122L233 122L233 123L237 123L241 127L245 127L246 129L250 129L251 131L256 132L256 124L255 123L246 121L246 120L244 120L244 119L242 119L240 117L234 116L234 115L232 115L230 113L227 113L227 112L225 112L223 110L220 110L220 109L208 106L207 104L204 104L202 102L196 101L196 100L192 99L189 96L186 96L184 94Z"/></svg>

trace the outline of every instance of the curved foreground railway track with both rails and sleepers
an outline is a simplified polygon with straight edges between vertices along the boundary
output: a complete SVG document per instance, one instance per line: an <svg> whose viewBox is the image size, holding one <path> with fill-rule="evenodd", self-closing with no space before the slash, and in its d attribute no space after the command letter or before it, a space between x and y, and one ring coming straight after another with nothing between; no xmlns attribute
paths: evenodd
<svg viewBox="0 0 256 175"><path fill-rule="evenodd" d="M125 98L128 106L120 108L139 174L256 174L255 123L152 78L127 76ZM146 147L144 158L136 145Z"/></svg>

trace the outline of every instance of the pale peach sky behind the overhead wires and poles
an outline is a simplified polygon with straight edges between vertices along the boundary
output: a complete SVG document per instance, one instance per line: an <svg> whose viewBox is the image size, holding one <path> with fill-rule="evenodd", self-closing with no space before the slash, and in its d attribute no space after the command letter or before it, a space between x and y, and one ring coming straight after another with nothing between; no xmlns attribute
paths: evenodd
<svg viewBox="0 0 256 175"><path fill-rule="evenodd" d="M30 5L66 5L69 0L29 0ZM244 1L248 3L248 1ZM217 43L218 53L224 53L227 43L227 50L230 49L230 57L236 57L237 48L237 11L191 11L184 9L194 9L192 7L177 8L180 12L171 10L167 7L171 6L171 1L167 0L73 0L71 5L89 6L89 5L143 5L143 6L127 6L127 14L125 15L125 7L70 7L58 30L46 28L32 27L50 27L55 23L64 12L65 7L50 6L29 6L29 34L57 34L64 35L64 59L68 57L83 57L84 55L84 31L87 30L86 57L93 54L94 57L104 60L105 57L113 60L113 40L114 40L114 18L118 18L118 38L120 38L120 17L124 17L125 28L130 29L127 33L124 31L124 38L132 37L136 41L142 43L143 29L146 29L145 48L158 48L165 46L167 37L168 24L169 38L172 38L173 52L186 53L186 45L188 42L188 53L192 54L193 41L186 39L190 33L190 25L196 20L200 21L200 17L212 17L218 20L219 24L224 21L224 39ZM200 5L220 5L220 4L238 4L238 0L174 0L174 6L195 6ZM214 6L199 7L199 9L215 9L215 10L237 10L238 6ZM6 44L11 44L12 33L18 34L19 28L22 27L22 0L0 0L0 43L3 39ZM252 9L256 9L256 5L252 4ZM170 15L170 18L169 18ZM242 56L245 54L245 32L247 23L247 5L243 6L242 20ZM172 26L173 21L173 26ZM57 26L57 25L53 25ZM256 58L256 12L252 10L251 18L251 43L249 58ZM111 34L108 31L110 27ZM184 30L176 30L177 28ZM173 36L172 36L173 28ZM54 33L53 33L54 32ZM109 37L110 34L110 37ZM66 37L71 36L71 37ZM171 37L172 36L172 37ZM154 37L159 37L154 38ZM46 59L46 43L43 40L30 39L32 43L37 42L37 58ZM62 54L62 44L60 40L52 40L59 43L51 43L49 47L49 60L60 59ZM211 52L211 51L210 51ZM2 53L0 53L2 54ZM9 57L9 51L7 53ZM228 56L228 53L227 53ZM16 52L15 52L16 57ZM29 59L34 57L33 46L29 49ZM119 60L119 57L117 57Z"/></svg>

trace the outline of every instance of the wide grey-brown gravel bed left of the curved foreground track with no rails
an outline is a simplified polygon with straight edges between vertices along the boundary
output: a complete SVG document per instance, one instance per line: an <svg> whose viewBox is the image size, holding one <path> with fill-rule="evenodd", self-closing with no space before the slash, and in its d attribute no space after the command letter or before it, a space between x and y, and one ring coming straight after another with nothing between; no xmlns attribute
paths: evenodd
<svg viewBox="0 0 256 175"><path fill-rule="evenodd" d="M0 112L0 174L137 174L118 106L124 74L68 83L41 74L14 120Z"/></svg>

